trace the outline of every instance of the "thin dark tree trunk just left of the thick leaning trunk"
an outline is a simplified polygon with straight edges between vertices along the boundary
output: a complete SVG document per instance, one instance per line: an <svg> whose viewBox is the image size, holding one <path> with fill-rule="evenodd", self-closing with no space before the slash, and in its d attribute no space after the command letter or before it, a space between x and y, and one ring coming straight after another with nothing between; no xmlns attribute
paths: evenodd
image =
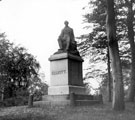
<svg viewBox="0 0 135 120"><path fill-rule="evenodd" d="M107 62L107 69L108 69L108 81L107 81L107 92L108 92L108 102L112 102L112 89L111 89L111 85L112 85L112 81L111 81L111 72L110 72L110 55L109 55L109 47L107 47L107 58L108 58L108 62Z"/></svg>

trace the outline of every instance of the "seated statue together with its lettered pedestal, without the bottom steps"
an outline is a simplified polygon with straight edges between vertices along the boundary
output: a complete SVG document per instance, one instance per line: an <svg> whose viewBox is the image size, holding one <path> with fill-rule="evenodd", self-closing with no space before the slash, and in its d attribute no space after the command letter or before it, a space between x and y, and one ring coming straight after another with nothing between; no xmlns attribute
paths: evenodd
<svg viewBox="0 0 135 120"><path fill-rule="evenodd" d="M82 80L83 59L77 50L73 29L65 27L58 37L59 50L50 56L50 87L48 95L65 95L71 92L85 94Z"/></svg>

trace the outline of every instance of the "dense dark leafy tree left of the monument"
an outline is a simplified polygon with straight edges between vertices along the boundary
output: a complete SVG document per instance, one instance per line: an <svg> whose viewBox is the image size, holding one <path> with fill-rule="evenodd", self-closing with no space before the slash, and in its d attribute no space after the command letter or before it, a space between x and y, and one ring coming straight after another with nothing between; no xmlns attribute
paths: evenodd
<svg viewBox="0 0 135 120"><path fill-rule="evenodd" d="M10 89L8 96L13 97L18 89L29 87L32 76L39 77L40 65L24 47L10 43L5 34L0 38L0 91L4 94L5 88ZM32 83L35 84L34 79L31 79Z"/></svg>

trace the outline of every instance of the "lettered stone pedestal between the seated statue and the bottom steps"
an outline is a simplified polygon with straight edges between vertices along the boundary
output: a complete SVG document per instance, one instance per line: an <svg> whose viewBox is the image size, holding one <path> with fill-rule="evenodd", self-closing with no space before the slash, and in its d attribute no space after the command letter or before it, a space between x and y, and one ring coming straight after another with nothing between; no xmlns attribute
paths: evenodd
<svg viewBox="0 0 135 120"><path fill-rule="evenodd" d="M48 95L85 94L82 80L83 59L70 53L54 54L50 58Z"/></svg>

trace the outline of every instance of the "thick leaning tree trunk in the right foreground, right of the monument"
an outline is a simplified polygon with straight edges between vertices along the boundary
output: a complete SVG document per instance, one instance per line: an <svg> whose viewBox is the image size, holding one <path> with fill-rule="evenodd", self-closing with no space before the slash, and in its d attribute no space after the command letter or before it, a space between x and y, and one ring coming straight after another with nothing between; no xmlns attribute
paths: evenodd
<svg viewBox="0 0 135 120"><path fill-rule="evenodd" d="M107 1L107 38L111 58L112 78L113 78L113 102L114 110L124 110L124 89L122 78L122 67L119 57L118 42L116 40L114 0Z"/></svg>

